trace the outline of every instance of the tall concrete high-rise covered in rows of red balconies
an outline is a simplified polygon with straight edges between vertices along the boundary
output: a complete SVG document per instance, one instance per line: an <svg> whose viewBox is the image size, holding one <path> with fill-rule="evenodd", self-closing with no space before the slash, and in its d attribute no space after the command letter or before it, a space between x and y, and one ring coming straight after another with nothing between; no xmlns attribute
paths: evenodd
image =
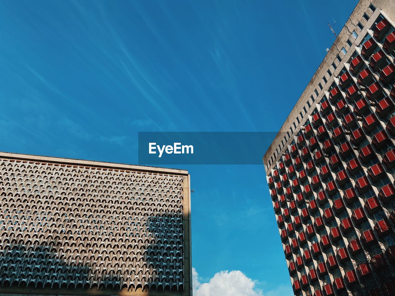
<svg viewBox="0 0 395 296"><path fill-rule="evenodd" d="M361 0L263 157L295 295L395 295L394 28Z"/></svg>

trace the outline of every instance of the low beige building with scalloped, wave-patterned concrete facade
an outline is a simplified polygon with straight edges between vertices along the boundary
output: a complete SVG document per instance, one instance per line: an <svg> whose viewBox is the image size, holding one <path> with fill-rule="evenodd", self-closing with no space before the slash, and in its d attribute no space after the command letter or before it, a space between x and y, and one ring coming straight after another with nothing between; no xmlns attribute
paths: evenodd
<svg viewBox="0 0 395 296"><path fill-rule="evenodd" d="M0 153L0 294L192 296L186 170Z"/></svg>

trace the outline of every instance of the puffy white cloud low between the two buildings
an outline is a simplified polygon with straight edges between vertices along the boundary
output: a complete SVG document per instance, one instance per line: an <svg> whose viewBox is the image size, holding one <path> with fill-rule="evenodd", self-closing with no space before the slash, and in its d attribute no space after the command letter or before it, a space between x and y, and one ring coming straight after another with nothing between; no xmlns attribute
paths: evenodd
<svg viewBox="0 0 395 296"><path fill-rule="evenodd" d="M192 268L192 286L194 296L262 296L255 288L255 282L240 270L221 271L210 279L209 283L199 283L198 273Z"/></svg>

